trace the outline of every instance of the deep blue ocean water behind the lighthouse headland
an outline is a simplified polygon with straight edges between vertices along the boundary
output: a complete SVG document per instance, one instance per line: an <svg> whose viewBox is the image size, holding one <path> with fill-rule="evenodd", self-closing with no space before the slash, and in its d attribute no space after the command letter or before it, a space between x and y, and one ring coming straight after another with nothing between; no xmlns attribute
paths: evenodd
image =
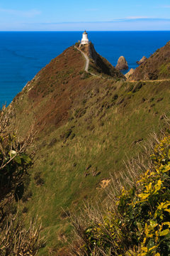
<svg viewBox="0 0 170 256"><path fill-rule="evenodd" d="M89 32L96 51L116 65L120 55L136 68L170 40L170 31ZM38 71L67 47L81 40L81 32L0 32L0 107L8 105Z"/></svg>

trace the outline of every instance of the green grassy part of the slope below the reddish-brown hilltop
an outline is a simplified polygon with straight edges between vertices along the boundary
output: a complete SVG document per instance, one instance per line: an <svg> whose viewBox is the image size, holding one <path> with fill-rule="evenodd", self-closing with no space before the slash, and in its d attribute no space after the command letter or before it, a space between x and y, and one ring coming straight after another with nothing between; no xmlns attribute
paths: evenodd
<svg viewBox="0 0 170 256"><path fill-rule="evenodd" d="M90 79L98 81L98 78ZM138 85L139 82L134 88ZM164 100L157 102L162 97ZM145 98L144 102L142 98ZM98 92L91 87L84 94L84 100L77 105L79 112L86 109L81 117L77 110L69 110L69 116L74 119L70 118L57 129L49 128L47 136L43 132L38 134L35 147L31 149L36 152L30 170L29 189L33 196L28 202L21 203L21 208L28 207L27 220L38 215L42 222L47 245L39 256L47 255L52 248L52 255L55 255L59 247L67 244L72 228L69 218L61 217L62 209L79 211L83 201L95 203L98 198L104 198L106 191L96 189L99 183L110 178L110 174L119 175L125 168L123 160L142 150L141 145L149 133L157 132L163 126L164 121L159 117L169 114L169 103L168 82L145 82L133 92L130 82L108 81L99 87ZM27 105L25 95L21 107L26 110ZM39 105L38 111L42 107ZM33 116L33 112L29 112L26 121L21 120L23 132ZM74 138L71 139L71 135L63 137L70 129L75 134ZM56 142L50 146L54 138ZM142 142L136 144L135 141L141 138ZM89 165L91 168L86 170ZM93 176L96 168L101 174ZM33 178L38 171L45 181L42 186L36 186ZM85 176L86 172L88 176ZM60 237L60 233L67 241Z"/></svg>

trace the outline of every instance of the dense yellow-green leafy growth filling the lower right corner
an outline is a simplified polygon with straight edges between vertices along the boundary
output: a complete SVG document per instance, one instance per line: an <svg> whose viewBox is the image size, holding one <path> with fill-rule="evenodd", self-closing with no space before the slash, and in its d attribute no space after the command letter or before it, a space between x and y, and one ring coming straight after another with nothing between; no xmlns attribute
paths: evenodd
<svg viewBox="0 0 170 256"><path fill-rule="evenodd" d="M169 152L166 134L154 147L150 168L140 180L129 190L123 188L120 196L110 196L113 210L101 218L91 213L86 228L73 220L81 246L72 255L170 255Z"/></svg>

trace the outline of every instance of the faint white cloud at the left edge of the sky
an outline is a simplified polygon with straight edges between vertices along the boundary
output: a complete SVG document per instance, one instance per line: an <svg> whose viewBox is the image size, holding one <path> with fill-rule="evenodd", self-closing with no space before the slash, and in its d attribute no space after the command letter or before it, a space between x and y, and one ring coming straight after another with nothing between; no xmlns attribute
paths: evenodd
<svg viewBox="0 0 170 256"><path fill-rule="evenodd" d="M37 11L35 9L29 10L29 11L18 11L18 10L13 10L13 9L0 8L0 12L4 12L6 14L11 14L11 15L15 15L15 16L28 17L28 18L31 18L33 16L37 16L37 15L41 14L41 11Z"/></svg>

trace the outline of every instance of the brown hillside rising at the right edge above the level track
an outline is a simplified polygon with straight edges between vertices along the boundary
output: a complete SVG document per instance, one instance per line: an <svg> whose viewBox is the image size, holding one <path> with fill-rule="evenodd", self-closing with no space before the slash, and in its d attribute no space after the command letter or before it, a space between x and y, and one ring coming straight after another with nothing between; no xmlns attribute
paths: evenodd
<svg viewBox="0 0 170 256"><path fill-rule="evenodd" d="M145 60L130 76L130 80L157 80L170 78L170 41Z"/></svg>

